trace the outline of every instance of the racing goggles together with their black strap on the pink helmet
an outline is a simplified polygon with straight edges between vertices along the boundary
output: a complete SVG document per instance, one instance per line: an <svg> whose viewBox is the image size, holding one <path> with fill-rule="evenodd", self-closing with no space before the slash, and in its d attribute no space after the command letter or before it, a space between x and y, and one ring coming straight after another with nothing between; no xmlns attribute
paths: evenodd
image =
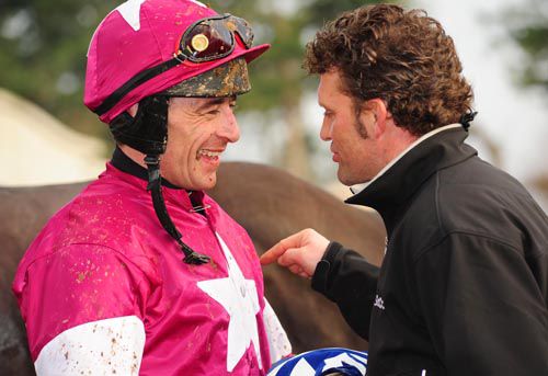
<svg viewBox="0 0 548 376"><path fill-rule="evenodd" d="M227 57L235 49L236 34L244 47L250 49L253 31L246 20L225 13L196 21L184 32L172 59L134 76L109 95L94 112L100 116L107 113L132 90L185 60L206 62Z"/></svg>

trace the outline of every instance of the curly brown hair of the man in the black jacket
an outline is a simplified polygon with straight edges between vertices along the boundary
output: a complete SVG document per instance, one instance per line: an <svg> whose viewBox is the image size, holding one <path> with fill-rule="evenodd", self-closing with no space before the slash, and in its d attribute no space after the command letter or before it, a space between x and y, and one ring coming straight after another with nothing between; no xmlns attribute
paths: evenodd
<svg viewBox="0 0 548 376"><path fill-rule="evenodd" d="M423 10L378 4L345 12L307 44L304 67L316 75L336 69L356 109L380 98L396 124L416 136L471 111L453 39Z"/></svg>

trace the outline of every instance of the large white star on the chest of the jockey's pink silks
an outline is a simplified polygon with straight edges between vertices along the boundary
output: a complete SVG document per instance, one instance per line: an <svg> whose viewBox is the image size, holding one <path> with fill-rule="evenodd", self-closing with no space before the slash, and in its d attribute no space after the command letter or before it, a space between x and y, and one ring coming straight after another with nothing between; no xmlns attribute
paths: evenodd
<svg viewBox="0 0 548 376"><path fill-rule="evenodd" d="M227 244L218 233L216 235L227 259L228 277L201 281L197 283L197 286L213 299L217 300L230 316L228 324L227 371L232 372L246 354L250 342L253 343L259 367L262 368L261 352L259 350L259 330L255 318L256 314L259 314L255 281L244 278Z"/></svg>

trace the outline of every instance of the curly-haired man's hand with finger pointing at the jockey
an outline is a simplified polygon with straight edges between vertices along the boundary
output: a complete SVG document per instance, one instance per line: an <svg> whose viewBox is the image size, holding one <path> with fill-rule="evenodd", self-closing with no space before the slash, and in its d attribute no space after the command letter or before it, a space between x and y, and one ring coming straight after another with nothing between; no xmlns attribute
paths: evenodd
<svg viewBox="0 0 548 376"><path fill-rule="evenodd" d="M289 269L293 273L310 278L328 248L329 240L307 228L290 237L282 239L276 246L263 253L263 265L277 263Z"/></svg>

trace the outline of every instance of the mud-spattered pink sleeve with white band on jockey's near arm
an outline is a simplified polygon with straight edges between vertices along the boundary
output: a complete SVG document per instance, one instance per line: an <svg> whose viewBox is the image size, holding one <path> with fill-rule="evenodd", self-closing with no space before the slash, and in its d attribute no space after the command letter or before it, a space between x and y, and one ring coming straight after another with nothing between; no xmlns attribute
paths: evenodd
<svg viewBox="0 0 548 376"><path fill-rule="evenodd" d="M138 372L150 295L139 263L72 244L27 267L18 297L38 375Z"/></svg>

